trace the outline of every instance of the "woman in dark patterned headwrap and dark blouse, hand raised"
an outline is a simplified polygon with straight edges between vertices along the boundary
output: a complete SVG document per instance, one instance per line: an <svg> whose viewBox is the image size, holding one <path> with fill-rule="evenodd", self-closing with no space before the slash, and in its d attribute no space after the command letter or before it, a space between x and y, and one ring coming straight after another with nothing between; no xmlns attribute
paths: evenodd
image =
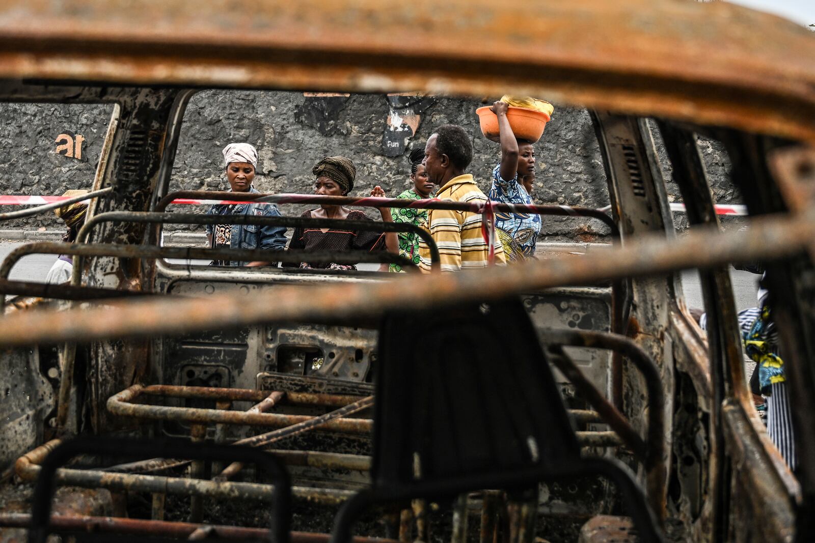
<svg viewBox="0 0 815 543"><path fill-rule="evenodd" d="M345 196L353 190L356 167L344 156L329 156L320 160L311 169L315 176L314 193L320 196ZM381 186L375 186L372 196L385 197ZM382 221L393 222L390 208L379 208ZM372 221L364 212L352 210L342 205L321 204L319 208L308 209L301 217L315 219L347 219L349 221ZM292 234L290 249L310 251L382 251L399 252L399 239L395 232L380 233L370 230L345 230L341 228L297 227ZM351 264L311 264L301 262L303 269L356 269Z"/></svg>

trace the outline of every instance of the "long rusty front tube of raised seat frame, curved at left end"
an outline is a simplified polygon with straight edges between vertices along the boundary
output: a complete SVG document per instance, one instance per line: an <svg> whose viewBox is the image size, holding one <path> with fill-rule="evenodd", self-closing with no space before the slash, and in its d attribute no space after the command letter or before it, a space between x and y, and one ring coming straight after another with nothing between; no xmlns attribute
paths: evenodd
<svg viewBox="0 0 815 543"><path fill-rule="evenodd" d="M134 384L108 399L108 411L122 417L148 418L151 420L172 420L185 423L226 423L247 426L290 427L299 423L315 423L319 417L289 415L279 413L249 413L245 411L221 411L190 407L170 407L166 405L145 405L130 403L143 386ZM372 403L372 401L371 401ZM367 406L367 405L366 405ZM346 406L347 407L347 406ZM345 412L344 412L345 413ZM320 423L324 430L352 434L367 434L372 429L372 421L363 418L331 418ZM257 437L257 436L256 436ZM252 444L254 438L241 440L240 444Z"/></svg>

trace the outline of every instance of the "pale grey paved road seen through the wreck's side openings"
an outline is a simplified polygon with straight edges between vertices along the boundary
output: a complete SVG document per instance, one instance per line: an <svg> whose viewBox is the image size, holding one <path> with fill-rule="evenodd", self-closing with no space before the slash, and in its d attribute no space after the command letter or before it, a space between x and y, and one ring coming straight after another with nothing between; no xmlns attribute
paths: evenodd
<svg viewBox="0 0 815 543"><path fill-rule="evenodd" d="M0 259L5 258L14 247L20 243L0 243ZM24 281L42 282L54 264L54 255L29 255L24 256L20 262L11 269L11 278ZM375 268L377 265L373 265ZM733 287L736 295L736 307L738 310L747 309L756 305L756 291L758 291L758 278L756 274L730 270L730 277L733 279ZM703 307L702 291L699 287L699 275L695 271L682 273L682 285L685 291L685 301L688 307Z"/></svg>

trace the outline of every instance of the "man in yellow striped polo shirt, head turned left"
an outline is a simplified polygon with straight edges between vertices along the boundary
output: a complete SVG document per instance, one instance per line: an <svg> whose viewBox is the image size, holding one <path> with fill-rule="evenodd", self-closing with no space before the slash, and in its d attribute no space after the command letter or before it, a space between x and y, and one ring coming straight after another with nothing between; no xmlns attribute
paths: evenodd
<svg viewBox="0 0 815 543"><path fill-rule="evenodd" d="M425 172L440 188L437 199L453 202L484 201L473 176L464 173L473 161L473 144L465 129L443 125L430 136L425 146ZM481 213L470 211L428 210L425 230L438 246L442 271L483 268L489 264L489 246L481 233ZM504 249L496 243L496 264L505 264ZM420 268L430 271L430 250L419 242Z"/></svg>

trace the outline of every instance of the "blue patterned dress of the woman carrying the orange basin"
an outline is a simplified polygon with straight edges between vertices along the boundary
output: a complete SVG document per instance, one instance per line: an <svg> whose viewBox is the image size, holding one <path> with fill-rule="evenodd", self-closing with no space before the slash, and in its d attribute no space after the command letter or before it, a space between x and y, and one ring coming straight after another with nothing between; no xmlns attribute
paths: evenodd
<svg viewBox="0 0 815 543"><path fill-rule="evenodd" d="M500 169L501 165L497 164L492 170L489 199L502 204L532 204L532 197L518 182L518 173L511 181L507 181L501 177ZM496 212L496 228L509 234L513 242L521 247L523 256L529 258L535 255L535 243L538 241L541 228L540 215Z"/></svg>

